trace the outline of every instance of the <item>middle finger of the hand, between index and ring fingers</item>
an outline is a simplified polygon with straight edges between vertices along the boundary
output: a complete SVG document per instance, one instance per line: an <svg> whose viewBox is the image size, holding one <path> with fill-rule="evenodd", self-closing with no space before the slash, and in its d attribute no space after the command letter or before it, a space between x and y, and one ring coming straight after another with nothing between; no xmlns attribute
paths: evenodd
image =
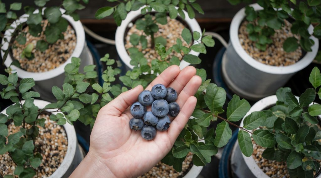
<svg viewBox="0 0 321 178"><path fill-rule="evenodd" d="M196 69L193 66L185 67L178 76L169 84L168 87L171 87L176 90L177 94L182 91L187 82L196 74Z"/></svg>

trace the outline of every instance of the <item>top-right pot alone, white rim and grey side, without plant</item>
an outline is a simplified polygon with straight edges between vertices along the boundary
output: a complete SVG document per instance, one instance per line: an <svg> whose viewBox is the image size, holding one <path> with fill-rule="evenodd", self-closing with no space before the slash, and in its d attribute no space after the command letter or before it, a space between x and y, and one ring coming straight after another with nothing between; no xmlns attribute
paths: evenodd
<svg viewBox="0 0 321 178"><path fill-rule="evenodd" d="M258 4L251 4L254 10L262 10ZM275 94L292 75L308 66L317 55L319 41L311 36L314 45L297 63L288 66L271 66L253 59L239 42L239 26L245 18L245 8L234 16L230 26L230 42L223 55L222 73L229 88L241 97L258 100ZM308 28L313 33L313 26Z"/></svg>

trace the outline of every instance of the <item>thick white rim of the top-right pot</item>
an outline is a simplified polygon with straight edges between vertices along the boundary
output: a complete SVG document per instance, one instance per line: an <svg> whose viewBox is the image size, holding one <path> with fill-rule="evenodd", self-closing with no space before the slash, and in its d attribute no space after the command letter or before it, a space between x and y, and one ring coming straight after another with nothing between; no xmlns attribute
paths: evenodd
<svg viewBox="0 0 321 178"><path fill-rule="evenodd" d="M251 7L254 8L254 10L262 10L263 7L261 7L258 4L250 4ZM303 56L302 59L300 59L298 62L292 65L287 65L287 66L271 66L267 64L260 63L253 59L250 55L247 54L247 52L243 49L239 42L239 26L241 22L243 21L244 17L246 16L245 14L245 7L239 10L235 14L235 16L232 19L231 26L230 26L230 44L234 47L235 51L237 54L250 66L253 68L263 71L266 73L271 73L271 74L290 74L290 73L295 73L298 72L302 69L304 69L306 66L308 66L313 59L317 55L318 47L319 47L319 41L316 37L311 36L310 39L314 41L314 45L311 47L312 51L307 52L306 55ZM310 34L313 33L313 26L310 25L308 28L308 31Z"/></svg>

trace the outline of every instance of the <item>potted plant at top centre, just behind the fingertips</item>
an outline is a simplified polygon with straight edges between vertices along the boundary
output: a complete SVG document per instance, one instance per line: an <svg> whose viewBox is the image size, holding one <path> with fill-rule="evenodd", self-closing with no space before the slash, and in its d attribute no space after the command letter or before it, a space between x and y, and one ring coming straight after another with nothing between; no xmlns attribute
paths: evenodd
<svg viewBox="0 0 321 178"><path fill-rule="evenodd" d="M168 62L183 69L200 63L197 56L206 54L204 44L213 47L207 42L210 36L200 38L202 31L194 19L194 9L204 14L195 1L126 0L114 7L100 8L95 16L101 19L113 15L119 26L115 36L117 53L130 69L137 63L159 62L163 56L156 52L157 43L169 53Z"/></svg>

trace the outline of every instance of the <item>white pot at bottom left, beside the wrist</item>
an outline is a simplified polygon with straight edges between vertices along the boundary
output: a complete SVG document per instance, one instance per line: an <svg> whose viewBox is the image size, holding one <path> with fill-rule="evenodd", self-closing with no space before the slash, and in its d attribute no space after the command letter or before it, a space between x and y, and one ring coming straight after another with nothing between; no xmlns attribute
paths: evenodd
<svg viewBox="0 0 321 178"><path fill-rule="evenodd" d="M23 100L22 104L24 102L25 101ZM42 109L50 103L47 101L35 99L34 104L38 106L39 109ZM6 114L5 113L6 109L7 108L5 108L1 113ZM55 109L48 109L46 111L55 111ZM57 114L57 113L59 112L53 112L52 114ZM49 178L69 177L71 173L74 171L74 169L76 169L76 167L79 165L79 163L83 159L83 155L80 151L80 146L78 145L78 142L77 142L76 131L74 129L74 126L70 125L69 123L66 123L65 125L63 125L63 127L66 131L67 140L68 140L67 152L60 166L57 168L57 170L53 174L51 174Z"/></svg>

